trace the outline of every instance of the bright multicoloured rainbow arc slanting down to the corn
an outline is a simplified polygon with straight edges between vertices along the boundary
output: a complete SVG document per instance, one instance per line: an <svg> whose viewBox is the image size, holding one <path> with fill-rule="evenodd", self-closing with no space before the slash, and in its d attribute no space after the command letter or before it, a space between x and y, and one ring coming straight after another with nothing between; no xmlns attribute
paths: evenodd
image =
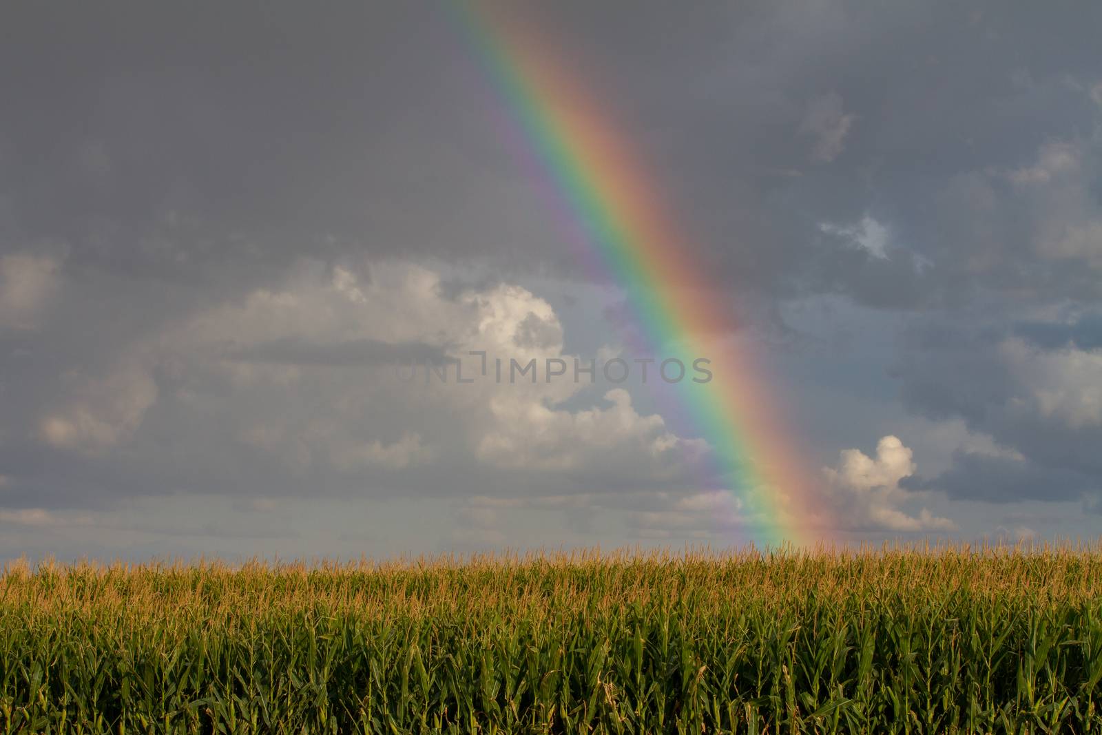
<svg viewBox="0 0 1102 735"><path fill-rule="evenodd" d="M538 35L479 2L445 3L475 51L498 101L558 195L583 258L624 289L650 347L691 365L712 360L709 383L679 383L684 408L712 446L717 477L736 498L748 538L766 547L806 545L829 527L817 484L801 468L768 382L728 339L731 316L667 215L652 176L625 136L565 73ZM507 3L506 3L507 7Z"/></svg>

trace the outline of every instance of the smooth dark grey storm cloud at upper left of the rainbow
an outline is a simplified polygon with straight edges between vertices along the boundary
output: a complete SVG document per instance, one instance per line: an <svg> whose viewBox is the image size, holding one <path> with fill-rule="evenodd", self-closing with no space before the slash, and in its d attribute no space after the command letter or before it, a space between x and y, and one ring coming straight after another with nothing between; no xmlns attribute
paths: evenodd
<svg viewBox="0 0 1102 735"><path fill-rule="evenodd" d="M302 255L461 259L541 240L515 187L480 175L508 176L507 154L434 6L7 15L9 242L61 240L75 262L194 282Z"/></svg>

